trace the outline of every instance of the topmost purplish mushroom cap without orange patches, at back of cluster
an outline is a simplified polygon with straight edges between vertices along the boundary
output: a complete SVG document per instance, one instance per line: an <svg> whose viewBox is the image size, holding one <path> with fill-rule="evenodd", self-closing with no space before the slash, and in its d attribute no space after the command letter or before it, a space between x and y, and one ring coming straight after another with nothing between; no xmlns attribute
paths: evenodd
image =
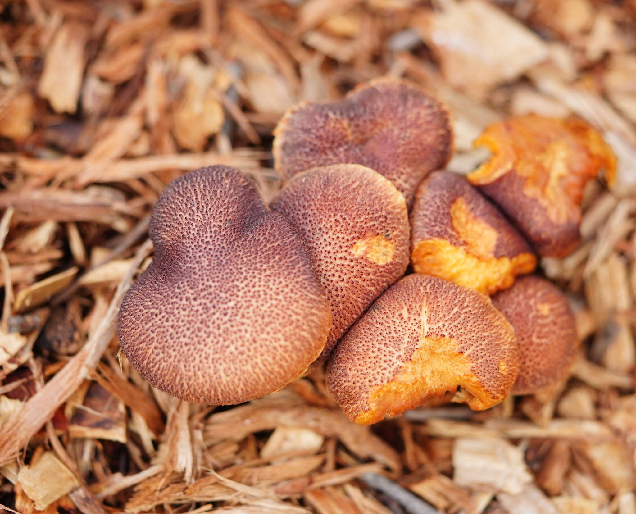
<svg viewBox="0 0 636 514"><path fill-rule="evenodd" d="M406 81L380 78L338 102L304 102L274 130L275 168L283 179L329 164L362 164L387 177L413 203L415 190L450 159L450 115L438 99Z"/></svg>

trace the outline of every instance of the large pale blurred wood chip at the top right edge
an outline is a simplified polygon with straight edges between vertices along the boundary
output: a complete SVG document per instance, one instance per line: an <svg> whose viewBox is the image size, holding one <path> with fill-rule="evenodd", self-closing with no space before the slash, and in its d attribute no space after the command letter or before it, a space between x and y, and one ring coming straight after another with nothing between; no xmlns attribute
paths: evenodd
<svg viewBox="0 0 636 514"><path fill-rule="evenodd" d="M541 38L482 0L449 1L413 27L436 52L446 80L477 99L548 57Z"/></svg>

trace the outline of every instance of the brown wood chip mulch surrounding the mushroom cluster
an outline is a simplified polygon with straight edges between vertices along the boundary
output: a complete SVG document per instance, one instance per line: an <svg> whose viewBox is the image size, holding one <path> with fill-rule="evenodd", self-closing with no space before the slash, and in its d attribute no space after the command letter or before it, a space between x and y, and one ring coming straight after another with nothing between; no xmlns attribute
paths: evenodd
<svg viewBox="0 0 636 514"><path fill-rule="evenodd" d="M633 0L0 0L0 504L636 514L635 48ZM570 377L373 427L320 372L230 408L151 389L114 319L165 184L223 163L271 197L280 115L385 74L447 102L457 172L483 128L530 112L580 116L618 155L581 245L541 261L576 310Z"/></svg>

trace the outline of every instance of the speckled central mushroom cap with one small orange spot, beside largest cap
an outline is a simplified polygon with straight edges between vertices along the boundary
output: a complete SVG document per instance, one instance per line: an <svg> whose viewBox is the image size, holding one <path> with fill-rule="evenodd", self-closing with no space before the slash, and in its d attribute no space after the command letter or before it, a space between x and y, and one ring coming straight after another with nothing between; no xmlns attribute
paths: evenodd
<svg viewBox="0 0 636 514"><path fill-rule="evenodd" d="M295 175L271 207L300 231L331 305L331 332L317 363L408 266L404 197L359 164Z"/></svg>

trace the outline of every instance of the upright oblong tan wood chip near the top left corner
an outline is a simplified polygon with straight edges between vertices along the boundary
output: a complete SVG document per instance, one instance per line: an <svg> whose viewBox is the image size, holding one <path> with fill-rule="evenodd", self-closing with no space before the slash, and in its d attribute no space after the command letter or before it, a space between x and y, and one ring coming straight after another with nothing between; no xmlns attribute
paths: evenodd
<svg viewBox="0 0 636 514"><path fill-rule="evenodd" d="M88 31L84 25L67 22L55 34L46 52L38 94L48 99L57 113L77 110L86 64Z"/></svg>

